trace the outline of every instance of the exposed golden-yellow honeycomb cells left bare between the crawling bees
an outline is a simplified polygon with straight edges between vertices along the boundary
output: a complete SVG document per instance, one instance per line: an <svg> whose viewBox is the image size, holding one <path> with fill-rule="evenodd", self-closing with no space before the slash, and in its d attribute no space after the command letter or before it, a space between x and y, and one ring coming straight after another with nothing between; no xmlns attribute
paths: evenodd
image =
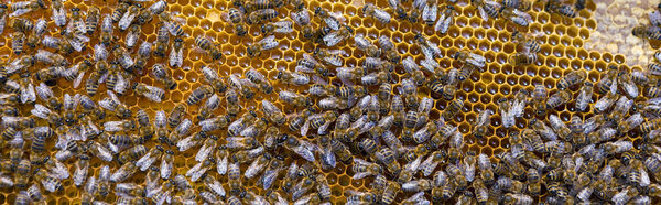
<svg viewBox="0 0 661 205"><path fill-rule="evenodd" d="M505 21L502 19L483 21L477 14L475 7L470 6L468 0L459 0L456 3L455 11L456 17L454 25L449 28L447 34L438 34L434 32L432 26L422 25L420 23L412 24L408 21L395 21L392 20L388 24L379 23L373 18L361 17L361 8L367 3L372 3L379 8L388 8L387 1L376 0L332 0L332 1L307 1L306 8L314 11L314 8L321 7L333 12L340 12L346 18L346 23L355 28L355 34L364 34L371 41L376 41L378 36L386 35L390 36L393 41L397 51L401 54L402 58L412 56L414 60L422 60L422 55L418 45L415 45L415 34L422 33L427 36L431 42L440 45L443 58L440 60L440 65L443 68L449 69L456 66L456 63L447 57L460 50L470 50L475 54L483 55L487 65L470 74L468 80L460 83L457 86L456 99L464 100L464 107L462 111L454 117L454 121L449 123L457 126L459 131L465 136L464 152L473 151L475 153L485 153L495 160L496 154L506 152L509 150L509 138L508 133L524 128L529 120L534 118L533 109L531 107L525 108L525 119L520 119L512 129L506 129L501 126L498 114L491 118L491 127L489 136L476 139L470 134L472 123L477 120L479 111L485 109L498 110L497 100L509 95L514 94L517 90L525 89L528 91L533 90L535 85L543 85L550 90L550 95L555 93L555 85L557 80L568 74L571 71L584 69L587 72L587 79L590 82L599 82L602 73L607 71L608 66L624 66L628 67L631 64L627 63L627 58L624 54L619 54L622 50L615 50L609 52L597 52L590 47L600 50L597 47L600 40L594 40L590 36L595 36L598 32L598 28L602 28L602 23L598 21L598 6L589 1L586 10L582 10L577 13L576 18L565 18L559 14L551 14L544 12L543 2L535 2L532 6L532 10L528 13L533 18L534 22L528 28L520 28L516 24ZM117 4L116 0L98 1L98 0L69 0L64 2L67 9L77 7L82 11L87 11L89 7L97 6L100 8L101 13L111 13L113 7L106 7ZM289 34L275 34L280 42L278 47L274 50L267 51L259 55L259 57L251 57L247 53L247 47L252 43L262 39L259 26L250 26L248 35L239 37L232 30L234 26L223 21L223 13L232 7L230 1L212 1L212 0L167 0L169 11L183 19L184 32L188 34L188 37L184 39L184 62L181 68L172 68L171 73L177 83L177 88L173 90L166 90L163 102L154 104L144 97L132 94L133 90L129 90L120 99L130 106L130 109L134 112L138 109L144 109L150 116L159 110L170 112L176 105L185 104L186 98L192 91L199 86L204 85L203 74L199 69L202 66L212 66L220 72L221 75L228 74L242 74L247 67L253 67L267 76L269 79L275 78L279 69L293 71L296 66L296 60L302 58L304 53L313 53L314 45L303 41L303 36L299 32L292 32ZM622 6L624 7L624 6ZM288 8L278 9L279 19L289 17ZM390 9L387 9L390 11ZM50 18L50 12L33 12L25 18L40 19ZM597 26L599 22L599 26ZM319 26L317 18L312 20L314 28ZM48 28L52 28L50 34L55 36L59 33L57 26L50 22ZM156 40L156 26L154 24L145 24L142 26L141 39L153 42ZM295 25L294 30L299 30L300 26ZM530 33L543 33L540 37L541 52L539 60L532 65L528 66L512 66L508 64L508 56L516 53L516 44L511 42L510 34L513 31L530 32ZM6 33L11 33L11 29L7 29ZM123 33L119 37L119 43L123 43ZM194 37L198 35L208 36L215 40L221 48L225 55L220 61L214 61L209 56L206 56L194 50ZM602 34L603 35L603 34ZM599 35L600 36L600 35ZM0 36L2 47L0 47L0 57L7 60L13 57L11 50L12 39L9 35ZM74 57L67 57L69 62L79 62L83 56L93 55L94 47L97 43L96 39L87 45L87 48L79 55ZM628 44L629 42L627 42ZM353 46L353 40L348 40L346 44L342 44L336 48L345 52L344 62L345 66L353 67L358 66L365 61L365 53ZM590 47L587 45L590 44ZM595 44L595 45L593 45ZM624 44L617 43L616 44ZM648 55L649 56L649 55ZM148 66L151 67L156 63L155 60L151 60ZM35 68L39 69L39 68ZM397 71L395 79L402 79L404 77L404 71ZM136 82L144 83L147 85L160 86L151 74L139 76ZM332 78L330 82L338 82L336 78ZM273 80L274 90L292 89L288 85ZM401 87L401 84L397 84L393 87ZM293 88L297 91L307 90L307 86L301 86ZM57 86L53 87L56 96L64 94L74 95L76 93L85 93L85 87L80 86L74 88L71 82L59 79ZM99 87L99 94L105 93L106 88L104 85ZM394 89L393 89L394 90ZM446 108L448 101L440 99L437 96L433 96L426 88L421 88L419 97L432 97L434 98L434 108L430 116L432 119L437 119L442 111ZM574 96L577 95L577 90L572 90ZM95 100L100 100L101 95L93 97ZM596 96L602 97L600 95ZM597 99L595 98L595 99ZM243 108L257 108L258 101L261 99L269 99L274 101L279 107L284 108L284 112L293 112L293 108L289 107L284 102L278 101L274 95L264 95L257 93L254 100L241 100ZM225 102L221 107L225 107ZM592 105L590 105L592 107ZM185 117L194 120L195 116L199 114L198 105L192 105L187 107ZM21 107L21 112L29 115L29 106ZM245 112L245 109L241 114ZM216 115L225 115L226 111L219 109ZM240 114L240 115L241 115ZM578 114L574 112L573 106L561 106L551 114L556 114L564 121L570 121L574 115L578 115L582 119L588 119L592 117L590 114ZM195 120L194 120L195 121ZM282 129L284 131L284 129ZM312 140L312 137L308 138ZM632 141L639 141L638 138L629 139ZM147 148L152 148L156 142L149 142L145 144ZM48 152L55 153L57 150L50 145ZM7 151L4 151L7 152ZM177 152L175 158L175 169L173 172L177 174L185 174L187 170L193 168L197 162L194 160L196 150L188 150L186 152ZM292 159L288 159L290 163ZM299 163L303 163L304 160L299 159ZM106 165L97 158L90 161L89 173L98 173L102 165ZM68 161L67 165L69 171L74 170L74 162ZM115 171L119 168L118 163L109 163L110 170ZM245 170L247 164L241 166ZM326 176L330 188L332 199L334 204L344 204L348 197L345 193L346 190L367 191L370 188L369 180L353 180L350 165L339 163L333 170L325 170L323 174ZM173 175L175 175L173 173ZM130 180L126 182L143 182L144 174L138 172ZM227 177L217 177L224 184L227 185ZM63 191L55 193L47 193L48 204L79 204L80 203L80 190L77 188L71 180L63 181ZM204 190L204 184L201 182L193 183L195 190ZM261 190L252 181L245 181L243 186L247 190L253 191L256 194L264 195L266 191ZM274 184L278 187L278 184ZM0 195L0 203L14 203L17 199L14 190L4 188ZM395 202L401 202L410 195L399 194ZM107 203L112 203L117 198L113 194L109 194L107 198L97 198ZM199 199L199 198L198 198ZM201 202L201 201L199 201Z"/></svg>

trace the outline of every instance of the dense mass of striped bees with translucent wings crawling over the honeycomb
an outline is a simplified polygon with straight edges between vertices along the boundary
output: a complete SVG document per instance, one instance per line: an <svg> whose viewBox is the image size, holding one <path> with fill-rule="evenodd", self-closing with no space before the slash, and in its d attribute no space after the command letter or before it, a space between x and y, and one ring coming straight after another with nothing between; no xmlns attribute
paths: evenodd
<svg viewBox="0 0 661 205"><path fill-rule="evenodd" d="M367 3L359 14L444 35L455 26L456 7L518 30L532 23L527 12L533 3L389 0L387 8ZM549 0L542 7L576 18L585 4ZM0 69L0 142L7 148L0 187L15 194L15 204L45 204L67 181L82 204L330 204L336 194L325 174L339 164L371 190L345 190L346 202L333 203L651 204L661 197L661 64L610 66L597 82L586 71L567 71L554 87L535 85L497 99L498 109L480 110L463 133L455 116L465 111L464 100L455 96L488 66L481 55L460 50L444 56L421 33L413 44L422 55L414 57L400 53L391 36L355 34L343 13L302 0L235 0L224 13L232 33L261 33L246 47L248 56L264 56L294 32L315 48L273 77L253 67L228 73L218 64L227 55L220 46L189 36L167 8L163 0L121 0L111 13L65 8L59 0L0 4L0 32L11 33L12 46ZM51 18L29 18L36 12ZM153 42L143 37L147 24L156 28ZM659 40L644 29L633 33ZM538 36L512 32L510 41L517 52L508 64L538 61ZM337 48L344 45L361 53L359 65L345 63L347 54ZM193 68L203 85L171 110L130 109L127 96L158 104L180 89L172 72L189 47L210 60ZM443 58L458 66L444 68ZM140 83L143 75L155 85ZM55 95L53 86L68 82L76 89L84 83L84 93ZM565 109L585 119L556 114ZM507 130L508 151L466 151L465 136L484 139L498 126ZM642 138L635 143L628 137ZM185 152L195 165L182 170L174 161ZM101 164L96 173L93 162Z"/></svg>

